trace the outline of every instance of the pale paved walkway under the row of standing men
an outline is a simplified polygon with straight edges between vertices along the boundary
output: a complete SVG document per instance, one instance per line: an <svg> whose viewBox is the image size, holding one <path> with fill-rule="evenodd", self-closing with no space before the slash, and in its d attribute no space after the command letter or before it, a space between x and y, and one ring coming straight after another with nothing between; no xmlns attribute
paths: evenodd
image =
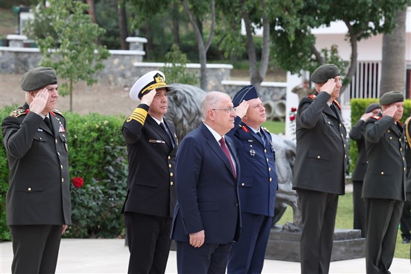
<svg viewBox="0 0 411 274"><path fill-rule="evenodd" d="M11 242L0 243L0 273L10 273ZM129 251L122 239L63 239L56 273L127 273ZM391 273L411 273L410 260L394 259ZM177 273L176 253L170 252L166 273ZM300 273L298 262L265 260L262 273ZM332 262L329 273L365 273L365 259Z"/></svg>

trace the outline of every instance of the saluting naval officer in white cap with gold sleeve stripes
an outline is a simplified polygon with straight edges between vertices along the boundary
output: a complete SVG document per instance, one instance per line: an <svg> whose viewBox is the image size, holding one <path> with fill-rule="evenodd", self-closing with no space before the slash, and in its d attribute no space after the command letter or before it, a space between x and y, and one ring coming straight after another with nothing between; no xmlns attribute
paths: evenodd
<svg viewBox="0 0 411 274"><path fill-rule="evenodd" d="M140 105L123 124L129 175L123 206L130 251L128 273L164 273L171 246L175 207L177 136L167 112L161 71L142 75L130 90Z"/></svg>

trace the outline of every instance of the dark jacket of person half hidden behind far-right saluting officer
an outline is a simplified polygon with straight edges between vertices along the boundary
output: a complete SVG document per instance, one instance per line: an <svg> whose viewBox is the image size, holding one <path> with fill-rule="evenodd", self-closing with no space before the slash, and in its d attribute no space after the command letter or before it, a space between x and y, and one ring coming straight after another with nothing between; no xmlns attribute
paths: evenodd
<svg viewBox="0 0 411 274"><path fill-rule="evenodd" d="M365 138L364 138L364 125L365 121L361 119L357 121L351 132L349 132L349 138L356 140L358 157L356 162L356 168L353 171L352 180L353 181L363 181L366 171L366 147L365 147Z"/></svg>

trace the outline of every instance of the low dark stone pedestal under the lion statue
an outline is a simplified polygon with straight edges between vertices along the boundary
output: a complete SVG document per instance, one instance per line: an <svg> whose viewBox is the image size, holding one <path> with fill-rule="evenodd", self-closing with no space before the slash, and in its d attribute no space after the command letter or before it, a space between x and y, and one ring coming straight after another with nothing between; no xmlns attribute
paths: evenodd
<svg viewBox="0 0 411 274"><path fill-rule="evenodd" d="M300 232L286 232L282 226L271 229L265 258L269 260L300 261ZM332 246L332 261L363 258L365 256L365 238L361 238L358 229L335 229Z"/></svg>

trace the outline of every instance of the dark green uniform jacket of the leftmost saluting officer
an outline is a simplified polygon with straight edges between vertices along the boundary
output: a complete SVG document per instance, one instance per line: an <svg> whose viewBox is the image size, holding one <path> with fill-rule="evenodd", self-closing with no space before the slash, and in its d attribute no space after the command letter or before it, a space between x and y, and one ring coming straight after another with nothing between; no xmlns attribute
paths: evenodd
<svg viewBox="0 0 411 274"><path fill-rule="evenodd" d="M49 116L53 134L27 103L1 123L10 169L8 225L71 224L66 121L57 110Z"/></svg>

